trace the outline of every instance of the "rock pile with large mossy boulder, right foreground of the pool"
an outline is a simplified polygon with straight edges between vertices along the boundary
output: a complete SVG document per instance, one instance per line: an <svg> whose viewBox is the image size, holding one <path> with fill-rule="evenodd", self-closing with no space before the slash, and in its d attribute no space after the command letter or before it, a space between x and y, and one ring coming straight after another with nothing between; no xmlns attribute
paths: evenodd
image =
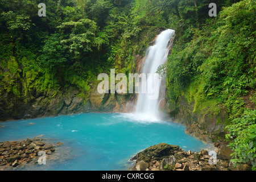
<svg viewBox="0 0 256 182"><path fill-rule="evenodd" d="M210 155L216 152L216 156ZM209 154L210 153L210 154ZM232 151L223 143L214 144L214 150L184 151L179 146L159 143L138 152L130 160L136 160L130 171L250 171L249 164L236 168L230 162ZM213 159L215 158L215 160Z"/></svg>

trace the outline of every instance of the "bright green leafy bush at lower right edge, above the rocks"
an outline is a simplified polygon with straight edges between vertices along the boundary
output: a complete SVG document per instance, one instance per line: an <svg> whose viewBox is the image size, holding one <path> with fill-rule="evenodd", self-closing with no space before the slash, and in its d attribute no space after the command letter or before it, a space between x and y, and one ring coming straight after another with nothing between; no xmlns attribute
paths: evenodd
<svg viewBox="0 0 256 182"><path fill-rule="evenodd" d="M245 110L241 118L233 119L226 126L230 140L229 146L233 149L232 161L238 163L251 162L256 166L256 111Z"/></svg>

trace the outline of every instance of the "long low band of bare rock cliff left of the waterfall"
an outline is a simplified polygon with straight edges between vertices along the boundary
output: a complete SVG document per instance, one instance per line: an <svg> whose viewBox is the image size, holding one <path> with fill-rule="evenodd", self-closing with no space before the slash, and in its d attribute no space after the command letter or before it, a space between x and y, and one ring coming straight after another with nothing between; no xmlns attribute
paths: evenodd
<svg viewBox="0 0 256 182"><path fill-rule="evenodd" d="M72 87L56 94L31 92L27 102L8 94L1 98L3 104L0 105L0 121L88 112L127 113L133 111L135 106L135 95L99 94L96 83L92 84L88 97L81 97L79 93L78 89Z"/></svg>

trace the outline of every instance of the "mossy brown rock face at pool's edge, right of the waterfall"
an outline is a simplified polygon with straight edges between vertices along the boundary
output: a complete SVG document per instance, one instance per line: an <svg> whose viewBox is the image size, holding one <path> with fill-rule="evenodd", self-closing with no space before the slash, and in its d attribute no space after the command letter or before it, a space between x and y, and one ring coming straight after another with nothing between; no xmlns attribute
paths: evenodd
<svg viewBox="0 0 256 182"><path fill-rule="evenodd" d="M171 121L186 126L185 132L204 142L212 143L225 137L226 112L220 108L218 113L211 111L195 112L195 103L189 103L184 95L173 104L166 102L167 115Z"/></svg>

